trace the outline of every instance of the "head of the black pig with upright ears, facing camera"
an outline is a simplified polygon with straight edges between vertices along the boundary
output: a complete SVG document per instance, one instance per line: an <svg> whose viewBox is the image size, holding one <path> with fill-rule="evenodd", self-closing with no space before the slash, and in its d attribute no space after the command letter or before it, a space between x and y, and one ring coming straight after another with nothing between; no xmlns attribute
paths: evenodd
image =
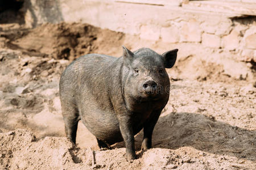
<svg viewBox="0 0 256 170"><path fill-rule="evenodd" d="M135 102L168 97L170 79L166 68L174 66L177 49L157 54L142 48L134 53L123 46L123 94Z"/></svg>

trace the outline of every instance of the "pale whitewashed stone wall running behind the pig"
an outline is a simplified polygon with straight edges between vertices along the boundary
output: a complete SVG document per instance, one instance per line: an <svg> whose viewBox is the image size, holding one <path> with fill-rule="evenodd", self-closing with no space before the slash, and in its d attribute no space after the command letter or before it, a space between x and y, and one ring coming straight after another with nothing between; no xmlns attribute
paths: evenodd
<svg viewBox="0 0 256 170"><path fill-rule="evenodd" d="M256 2L152 2L26 0L23 10L30 27L45 22L89 23L148 41L192 42L223 49L238 54L238 61L256 62Z"/></svg>

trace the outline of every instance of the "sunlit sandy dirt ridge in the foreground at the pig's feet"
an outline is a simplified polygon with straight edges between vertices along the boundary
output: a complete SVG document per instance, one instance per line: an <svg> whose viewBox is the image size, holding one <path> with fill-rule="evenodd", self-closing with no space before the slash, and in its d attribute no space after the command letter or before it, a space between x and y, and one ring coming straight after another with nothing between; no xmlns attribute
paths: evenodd
<svg viewBox="0 0 256 170"><path fill-rule="evenodd" d="M22 129L0 133L0 142L1 169L251 169L255 165L234 156L217 157L193 147L138 151L139 158L127 162L125 148L92 151L57 137L36 142L30 131Z"/></svg>

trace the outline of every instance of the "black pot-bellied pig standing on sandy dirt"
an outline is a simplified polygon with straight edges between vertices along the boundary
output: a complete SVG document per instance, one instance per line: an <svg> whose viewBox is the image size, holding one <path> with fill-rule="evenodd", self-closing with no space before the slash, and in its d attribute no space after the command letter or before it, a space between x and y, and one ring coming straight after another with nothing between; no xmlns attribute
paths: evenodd
<svg viewBox="0 0 256 170"><path fill-rule="evenodd" d="M136 159L134 135L143 128L142 150L151 148L152 132L168 102L178 49L162 55L148 48L123 56L86 54L61 74L60 101L65 133L76 143L81 120L100 148L124 141L127 160Z"/></svg>

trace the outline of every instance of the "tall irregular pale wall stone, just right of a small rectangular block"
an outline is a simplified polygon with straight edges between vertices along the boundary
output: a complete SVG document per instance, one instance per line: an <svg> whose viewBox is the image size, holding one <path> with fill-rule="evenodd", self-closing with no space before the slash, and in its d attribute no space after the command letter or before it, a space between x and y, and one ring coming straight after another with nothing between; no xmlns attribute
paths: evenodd
<svg viewBox="0 0 256 170"><path fill-rule="evenodd" d="M222 47L228 50L235 50L239 46L240 34L233 30L229 35L222 38Z"/></svg>

